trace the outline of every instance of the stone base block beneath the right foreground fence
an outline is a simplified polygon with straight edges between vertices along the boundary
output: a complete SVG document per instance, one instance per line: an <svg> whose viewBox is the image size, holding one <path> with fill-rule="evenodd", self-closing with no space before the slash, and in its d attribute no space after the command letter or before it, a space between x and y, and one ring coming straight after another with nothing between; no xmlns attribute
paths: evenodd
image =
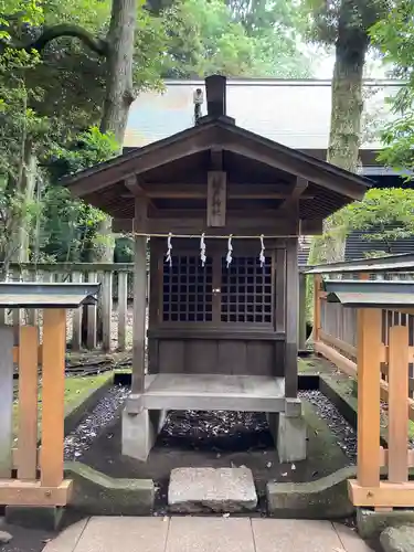
<svg viewBox="0 0 414 552"><path fill-rule="evenodd" d="M357 508L357 527L362 539L376 539L388 527L414 524L414 510L393 510L375 512L364 508Z"/></svg>

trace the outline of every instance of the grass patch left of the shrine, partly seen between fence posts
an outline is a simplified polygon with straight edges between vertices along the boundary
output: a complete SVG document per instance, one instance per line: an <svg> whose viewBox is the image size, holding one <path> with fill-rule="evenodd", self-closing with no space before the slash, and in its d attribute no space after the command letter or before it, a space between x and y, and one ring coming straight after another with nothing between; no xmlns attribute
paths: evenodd
<svg viewBox="0 0 414 552"><path fill-rule="evenodd" d="M105 372L88 376L70 376L65 379L65 416L77 408L95 390L104 385L113 376L112 372ZM19 428L19 404L13 404L13 436L18 435ZM42 431L42 393L41 388L38 395L38 436Z"/></svg>

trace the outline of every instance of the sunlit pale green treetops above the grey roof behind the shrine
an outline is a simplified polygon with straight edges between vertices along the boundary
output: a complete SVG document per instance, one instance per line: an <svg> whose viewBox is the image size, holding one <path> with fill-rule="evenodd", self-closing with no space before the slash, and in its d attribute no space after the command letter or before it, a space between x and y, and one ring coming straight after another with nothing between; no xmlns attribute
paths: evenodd
<svg viewBox="0 0 414 552"><path fill-rule="evenodd" d="M169 10L163 75L308 76L310 62L300 52L294 29L291 24L290 32L282 32L275 24L250 32L224 0L181 0Z"/></svg>

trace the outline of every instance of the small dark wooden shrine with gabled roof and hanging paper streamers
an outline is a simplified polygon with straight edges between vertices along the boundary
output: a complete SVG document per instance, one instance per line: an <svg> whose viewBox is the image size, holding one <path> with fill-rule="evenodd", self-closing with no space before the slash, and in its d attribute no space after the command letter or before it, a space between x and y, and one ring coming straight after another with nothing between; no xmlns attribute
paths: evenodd
<svg viewBox="0 0 414 552"><path fill-rule="evenodd" d="M135 238L123 453L145 460L168 410L238 410L268 413L280 459L302 459L298 237L369 183L238 127L224 77L205 87L197 126L64 182Z"/></svg>

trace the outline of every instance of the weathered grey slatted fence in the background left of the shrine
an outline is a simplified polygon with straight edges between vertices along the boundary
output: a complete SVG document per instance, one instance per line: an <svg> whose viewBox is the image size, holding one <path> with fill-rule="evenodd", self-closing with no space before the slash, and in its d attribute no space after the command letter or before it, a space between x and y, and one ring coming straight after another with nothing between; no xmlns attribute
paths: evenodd
<svg viewBox="0 0 414 552"><path fill-rule="evenodd" d="M132 346L132 264L20 264L7 276L13 282L98 282L97 306L67 311L66 346L72 351L118 350ZM0 309L0 326L38 325L42 333L42 311Z"/></svg>

